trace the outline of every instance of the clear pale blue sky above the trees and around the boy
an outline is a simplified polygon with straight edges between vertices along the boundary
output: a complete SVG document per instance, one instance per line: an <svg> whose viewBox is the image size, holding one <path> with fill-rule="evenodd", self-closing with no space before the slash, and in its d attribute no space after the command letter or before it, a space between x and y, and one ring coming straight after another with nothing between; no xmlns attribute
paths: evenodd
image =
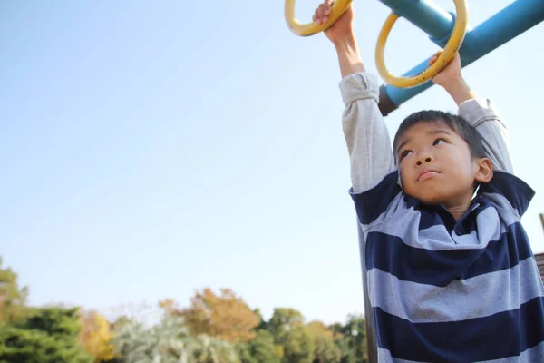
<svg viewBox="0 0 544 363"><path fill-rule="evenodd" d="M510 0L473 0L478 25ZM0 254L30 302L105 311L234 289L268 318L362 312L347 193L340 74L323 34L287 30L281 1L57 1L0 5ZM453 9L449 0L438 5ZM300 0L301 20L317 2ZM388 9L355 1L371 72ZM510 126L523 221L544 251L540 24L465 69ZM437 48L401 21L402 74ZM387 120L455 111L433 87Z"/></svg>

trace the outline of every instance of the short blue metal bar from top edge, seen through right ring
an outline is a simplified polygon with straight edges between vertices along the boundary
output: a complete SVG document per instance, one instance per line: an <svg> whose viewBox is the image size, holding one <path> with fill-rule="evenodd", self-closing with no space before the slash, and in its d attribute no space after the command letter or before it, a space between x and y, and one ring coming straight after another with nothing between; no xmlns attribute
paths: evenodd
<svg viewBox="0 0 544 363"><path fill-rule="evenodd" d="M432 38L441 39L452 32L452 15L430 0L380 0L380 2Z"/></svg>

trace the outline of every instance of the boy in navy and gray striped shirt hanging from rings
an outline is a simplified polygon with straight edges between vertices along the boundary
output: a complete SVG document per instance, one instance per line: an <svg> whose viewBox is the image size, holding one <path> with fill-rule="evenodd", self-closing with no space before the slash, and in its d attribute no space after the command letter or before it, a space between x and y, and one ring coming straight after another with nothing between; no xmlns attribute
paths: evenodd
<svg viewBox="0 0 544 363"><path fill-rule="evenodd" d="M456 55L433 82L459 116L413 113L392 152L353 16L348 9L325 34L342 73L379 361L544 362L544 289L520 224L534 192L513 175L505 126L463 81Z"/></svg>

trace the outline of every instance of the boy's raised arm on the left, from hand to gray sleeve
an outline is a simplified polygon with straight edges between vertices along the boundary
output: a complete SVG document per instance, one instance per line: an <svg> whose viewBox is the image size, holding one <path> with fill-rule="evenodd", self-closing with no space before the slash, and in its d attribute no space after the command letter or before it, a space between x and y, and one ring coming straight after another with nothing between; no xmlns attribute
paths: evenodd
<svg viewBox="0 0 544 363"><path fill-rule="evenodd" d="M316 23L325 22L330 14L330 1L319 5ZM345 103L342 123L350 156L354 193L369 190L394 169L389 132L378 109L378 80L365 73L355 35L353 9L348 9L325 35L335 44L342 81L340 91Z"/></svg>

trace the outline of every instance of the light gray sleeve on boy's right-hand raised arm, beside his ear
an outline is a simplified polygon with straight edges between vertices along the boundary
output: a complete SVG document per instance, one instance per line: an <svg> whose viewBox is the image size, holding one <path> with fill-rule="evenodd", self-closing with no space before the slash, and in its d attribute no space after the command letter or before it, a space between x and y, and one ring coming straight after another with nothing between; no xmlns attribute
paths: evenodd
<svg viewBox="0 0 544 363"><path fill-rule="evenodd" d="M510 159L508 129L488 99L472 99L459 105L459 115L471 123L483 138L483 147L493 169L514 173Z"/></svg>

